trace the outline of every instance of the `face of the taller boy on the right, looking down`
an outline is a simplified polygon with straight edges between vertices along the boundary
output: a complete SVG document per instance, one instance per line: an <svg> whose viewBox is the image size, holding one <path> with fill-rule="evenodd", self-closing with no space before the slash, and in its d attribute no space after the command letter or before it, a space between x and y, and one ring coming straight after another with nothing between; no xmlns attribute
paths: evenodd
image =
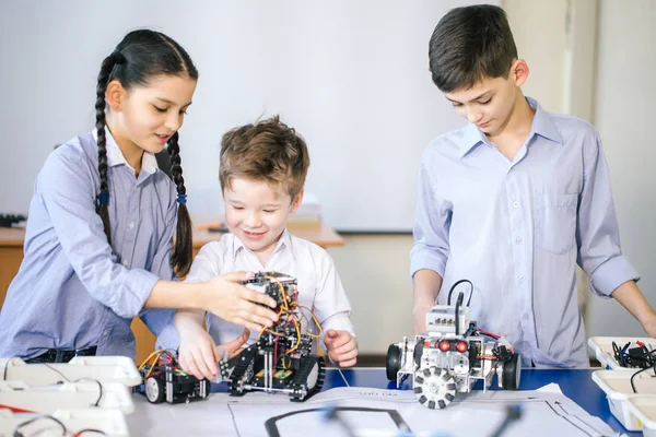
<svg viewBox="0 0 656 437"><path fill-rule="evenodd" d="M517 60L505 79L485 78L468 90L457 90L444 95L459 115L488 137L495 137L504 131L518 98L523 98L519 86L527 75L526 62Z"/></svg>

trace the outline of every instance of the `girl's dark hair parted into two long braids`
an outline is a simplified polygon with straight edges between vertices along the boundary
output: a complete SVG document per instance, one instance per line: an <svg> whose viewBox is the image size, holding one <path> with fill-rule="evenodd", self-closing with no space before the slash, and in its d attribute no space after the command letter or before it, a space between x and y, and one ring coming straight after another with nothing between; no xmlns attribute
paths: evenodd
<svg viewBox="0 0 656 437"><path fill-rule="evenodd" d="M96 211L103 218L107 241L112 244L109 226L109 186L107 180L107 140L105 138L105 92L107 84L116 80L129 90L132 86L147 86L149 81L157 75L178 75L194 80L198 79L198 70L185 49L168 36L154 31L138 29L130 32L116 46L112 55L101 64L96 86L95 128L98 138L98 173L101 176L101 192L96 201ZM168 140L172 176L178 192L178 217L173 265L179 275L186 275L191 265L191 218L186 205L186 188L180 167L180 147L178 133Z"/></svg>

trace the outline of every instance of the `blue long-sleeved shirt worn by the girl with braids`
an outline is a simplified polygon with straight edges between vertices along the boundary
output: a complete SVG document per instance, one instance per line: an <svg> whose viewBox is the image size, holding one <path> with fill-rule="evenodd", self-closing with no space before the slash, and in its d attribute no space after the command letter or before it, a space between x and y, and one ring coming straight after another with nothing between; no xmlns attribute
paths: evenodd
<svg viewBox="0 0 656 437"><path fill-rule="evenodd" d="M56 149L30 204L24 259L0 312L0 356L97 346L134 357L132 317L155 333L173 310L142 311L159 279L175 277L175 187L144 153L139 177L107 133L112 246L95 212L97 143L89 133Z"/></svg>

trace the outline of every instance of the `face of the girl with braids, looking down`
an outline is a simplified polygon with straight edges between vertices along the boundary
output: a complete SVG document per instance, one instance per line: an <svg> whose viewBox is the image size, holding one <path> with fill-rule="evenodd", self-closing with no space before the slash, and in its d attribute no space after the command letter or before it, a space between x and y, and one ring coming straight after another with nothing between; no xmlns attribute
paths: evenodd
<svg viewBox="0 0 656 437"><path fill-rule="evenodd" d="M178 75L160 75L145 86L130 90L112 82L107 86L110 107L107 125L114 139L121 149L162 152L183 126L195 91L195 80Z"/></svg>

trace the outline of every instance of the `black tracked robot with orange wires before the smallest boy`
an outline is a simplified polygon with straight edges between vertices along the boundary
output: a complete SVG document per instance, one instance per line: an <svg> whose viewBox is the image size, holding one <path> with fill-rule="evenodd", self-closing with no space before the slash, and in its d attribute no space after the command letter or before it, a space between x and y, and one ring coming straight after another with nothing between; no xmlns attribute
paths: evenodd
<svg viewBox="0 0 656 437"><path fill-rule="evenodd" d="M301 312L296 280L277 272L259 272L243 282L260 290L278 304L279 321L262 329L258 340L238 355L219 363L221 376L231 395L249 391L286 393L293 402L303 402L319 392L326 377L321 356L313 355L319 334L309 332ZM321 332L321 326L308 310Z"/></svg>

